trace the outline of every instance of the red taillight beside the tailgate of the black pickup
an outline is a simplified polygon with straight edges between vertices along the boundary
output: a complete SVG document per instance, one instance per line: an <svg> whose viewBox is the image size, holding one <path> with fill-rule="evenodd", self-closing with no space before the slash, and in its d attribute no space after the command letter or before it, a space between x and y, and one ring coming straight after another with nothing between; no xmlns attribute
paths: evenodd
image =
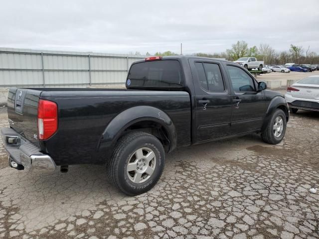
<svg viewBox="0 0 319 239"><path fill-rule="evenodd" d="M39 100L38 133L39 139L51 137L58 129L58 107L52 101Z"/></svg>

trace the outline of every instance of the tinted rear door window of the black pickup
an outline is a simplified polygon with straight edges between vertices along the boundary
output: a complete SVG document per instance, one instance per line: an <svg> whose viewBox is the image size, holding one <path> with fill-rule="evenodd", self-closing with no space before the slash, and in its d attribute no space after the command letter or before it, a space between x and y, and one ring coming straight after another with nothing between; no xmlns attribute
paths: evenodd
<svg viewBox="0 0 319 239"><path fill-rule="evenodd" d="M195 62L199 83L202 88L212 92L224 92L225 86L218 64Z"/></svg>

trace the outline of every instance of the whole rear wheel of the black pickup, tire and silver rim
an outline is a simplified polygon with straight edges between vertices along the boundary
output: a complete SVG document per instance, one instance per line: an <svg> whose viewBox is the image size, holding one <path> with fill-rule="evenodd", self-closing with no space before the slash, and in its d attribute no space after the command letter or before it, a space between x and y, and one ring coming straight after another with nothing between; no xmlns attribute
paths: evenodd
<svg viewBox="0 0 319 239"><path fill-rule="evenodd" d="M160 140L145 132L131 132L118 141L107 164L109 182L123 193L145 193L159 181L165 152Z"/></svg>

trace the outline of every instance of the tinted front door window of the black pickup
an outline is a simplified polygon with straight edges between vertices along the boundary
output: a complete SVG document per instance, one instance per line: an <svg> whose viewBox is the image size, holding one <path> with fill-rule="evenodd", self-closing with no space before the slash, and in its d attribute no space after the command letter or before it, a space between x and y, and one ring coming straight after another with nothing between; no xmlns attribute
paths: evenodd
<svg viewBox="0 0 319 239"><path fill-rule="evenodd" d="M227 71L235 92L255 92L253 79L243 69L228 65Z"/></svg>

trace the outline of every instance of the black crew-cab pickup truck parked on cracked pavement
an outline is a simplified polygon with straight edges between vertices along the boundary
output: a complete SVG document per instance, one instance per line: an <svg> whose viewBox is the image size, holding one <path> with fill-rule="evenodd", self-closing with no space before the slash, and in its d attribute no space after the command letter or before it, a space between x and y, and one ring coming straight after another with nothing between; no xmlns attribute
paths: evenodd
<svg viewBox="0 0 319 239"><path fill-rule="evenodd" d="M229 61L150 57L132 64L126 89L11 88L1 132L13 168L101 164L114 186L137 195L177 147L251 133L281 142L289 108L266 87Z"/></svg>

